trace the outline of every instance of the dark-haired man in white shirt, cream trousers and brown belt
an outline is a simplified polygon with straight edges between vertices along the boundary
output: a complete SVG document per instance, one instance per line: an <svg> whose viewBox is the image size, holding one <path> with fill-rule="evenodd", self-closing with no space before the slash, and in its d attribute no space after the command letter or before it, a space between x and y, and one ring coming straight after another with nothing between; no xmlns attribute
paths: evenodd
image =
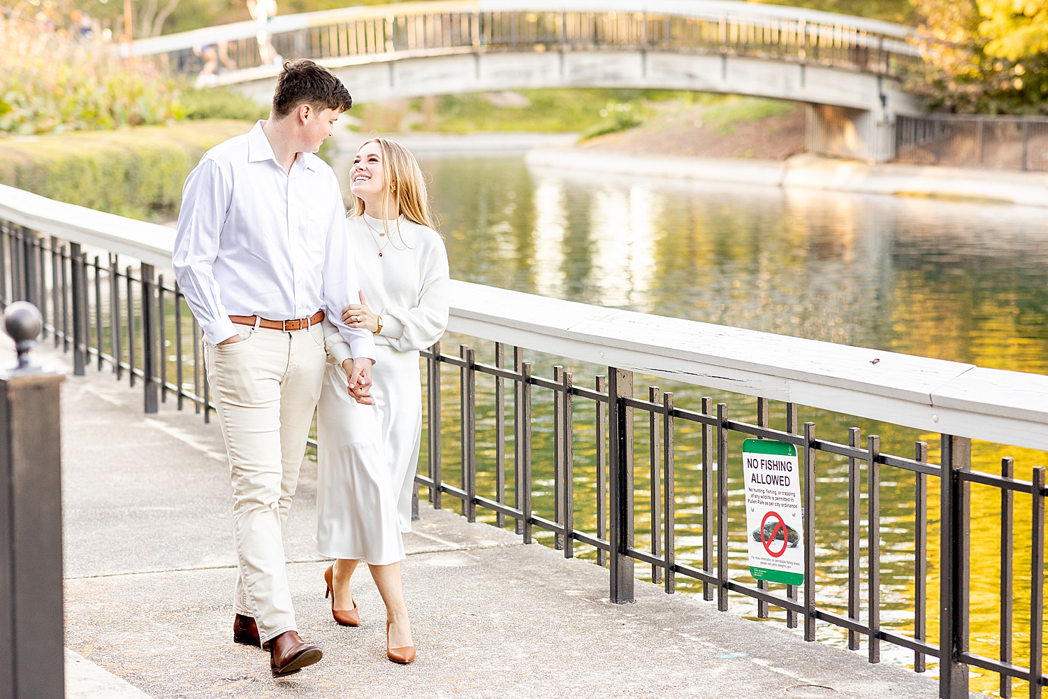
<svg viewBox="0 0 1048 699"><path fill-rule="evenodd" d="M285 64L269 119L190 173L175 237L173 266L203 330L230 459L234 640L268 648L275 677L322 656L297 631L281 538L321 393L325 315L350 344L350 391L371 401L373 337L342 322L359 293L342 193L314 155L351 106L326 68Z"/></svg>

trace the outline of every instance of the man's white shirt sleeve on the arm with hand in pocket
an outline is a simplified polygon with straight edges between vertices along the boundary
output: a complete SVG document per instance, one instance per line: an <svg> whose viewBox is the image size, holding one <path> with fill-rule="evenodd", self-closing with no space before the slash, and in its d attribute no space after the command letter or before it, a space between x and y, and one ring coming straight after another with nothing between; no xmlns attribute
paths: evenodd
<svg viewBox="0 0 1048 699"><path fill-rule="evenodd" d="M172 267L185 302L212 345L237 334L222 305L213 267L233 188L212 159L202 160L185 180Z"/></svg>

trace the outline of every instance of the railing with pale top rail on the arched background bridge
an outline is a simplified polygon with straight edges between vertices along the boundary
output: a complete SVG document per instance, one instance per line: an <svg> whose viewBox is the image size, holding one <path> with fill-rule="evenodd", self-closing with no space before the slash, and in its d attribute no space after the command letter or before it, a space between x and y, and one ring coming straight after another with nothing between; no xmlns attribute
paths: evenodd
<svg viewBox="0 0 1048 699"><path fill-rule="evenodd" d="M277 67L261 65L258 29L249 22L208 27L139 40L131 52L160 56L178 72L196 72L203 66L200 47L216 45L235 66L220 83L243 80L234 75L247 69L276 74ZM461 52L577 50L751 57L896 78L922 65L907 27L721 0L438 0L278 17L266 32L283 58L329 67Z"/></svg>

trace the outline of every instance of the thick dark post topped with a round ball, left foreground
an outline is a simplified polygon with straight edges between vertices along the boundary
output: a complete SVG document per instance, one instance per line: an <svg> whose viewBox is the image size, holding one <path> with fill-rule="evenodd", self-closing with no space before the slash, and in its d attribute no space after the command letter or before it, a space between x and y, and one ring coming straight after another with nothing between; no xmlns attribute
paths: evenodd
<svg viewBox="0 0 1048 699"><path fill-rule="evenodd" d="M19 368L0 374L0 696L65 696L62 616L63 374L25 352L43 319L12 304L4 325Z"/></svg>

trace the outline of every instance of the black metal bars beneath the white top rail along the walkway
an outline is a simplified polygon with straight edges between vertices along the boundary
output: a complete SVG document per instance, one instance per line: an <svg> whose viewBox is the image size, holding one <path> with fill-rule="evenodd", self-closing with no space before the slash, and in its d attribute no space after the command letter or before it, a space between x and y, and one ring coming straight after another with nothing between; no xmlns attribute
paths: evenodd
<svg viewBox="0 0 1048 699"><path fill-rule="evenodd" d="M28 300L44 313L46 331L54 347L72 352L74 374L82 375L88 366L110 370L117 380L126 374L131 386L141 381L146 412L156 412L158 402L169 397L181 410L191 403L209 419L206 376L200 367L200 331L189 313L177 285L167 285L155 277L148 264L137 268L121 266L115 255L101 255L75 243L42 237L22 226L0 222L0 302ZM769 608L786 610L790 628L803 626L804 637L815 639L816 621L844 629L848 647L859 649L866 639L869 659L879 662L881 643L892 643L913 653L913 665L924 672L926 659L940 663L942 697L967 697L968 665L998 673L1000 693L1011 696L1011 680L1029 683L1030 697L1040 697L1048 683L1043 673L1044 614L1044 512L1048 495L1045 469L1034 467L1032 480L1014 478L1014 464L1004 459L1000 473L983 473L970 467L970 440L957 435L941 436L940 463L927 460L927 444L918 441L913 458L881 453L880 439L869 436L860 443L858 428L848 432L846 442L816 436L813 422L799 422L798 406L785 406L783 430L769 424L769 401L759 398L756 419L747 422L728 417L728 406L701 400L698 410L678 407L673 393L648 389L646 397L634 395L634 375L608 368L593 388L577 386L572 373L555 367L551 378L536 375L524 361L524 349L495 345L492 364L477 361L476 351L461 346L458 355L443 354L440 344L423 352L427 373L428 433L425 468L416 481L428 492L433 506L444 505L444 496L459 501L462 514L475 521L478 508L495 515L495 524L512 526L525 543L538 530L552 532L553 545L566 558L575 554L575 545L596 549L597 563L610 569L610 598L616 603L633 599L636 564L651 566L651 578L673 593L680 577L697 581L704 599L716 599L718 609L727 611L729 595L735 593L757 600L758 615L767 617ZM507 362L508 358L508 362ZM445 368L458 373L458 407L442 405L441 376ZM494 381L495 483L478 488L478 381ZM552 449L543 458L552 463L539 464L551 471L552 516L544 517L533 506L536 481L532 466L538 453L532 449L533 407L545 393L552 403ZM485 394L486 395L486 394ZM507 412L507 403L509 410ZM583 408L586 408L583 410ZM592 410L589 408L592 407ZM457 416L455 415L457 413ZM581 416L593 416L593 441L584 443ZM651 495L647 499L651 536L646 549L635 541L637 494L634 488L635 414L647 414L648 462ZM641 421L643 422L643 421ZM701 565L676 560L678 544L676 523L678 498L675 495L676 438L682 429L697 431L701 440L701 471L698 498L701 504ZM443 467L444 437L458 433L458 463L455 473ZM548 437L549 435L545 436ZM804 584L801 589L766 583L751 585L733 576L728 566L729 494L727 484L730 444L740 436L776 439L795 445L801 454L803 524L805 547ZM596 502L592 529L580 527L575 512L574 468L576 450L585 447L595 460ZM485 446L486 449L486 446ZM813 543L824 521L815 502L817 460L833 456L848 462L848 593L847 613L821 606L821 585L816 576ZM913 626L910 635L881 627L880 583L882 474L886 469L912 474L914 478L915 527L913 541ZM926 501L930 479L938 483L940 522L938 560L930 547ZM935 480L937 479L937 481ZM861 486L866 484L866 507ZM486 482L485 482L486 483ZM998 657L976 655L969 650L970 589L970 486L996 488L1000 494L1000 653ZM546 487L543 485L542 487ZM934 493L934 489L931 490ZM1016 495L1030 496L1031 528L1028 539L1014 541ZM415 506L418 505L416 496ZM865 509L865 511L864 511ZM864 517L865 515L865 517ZM1025 517L1023 518L1025 520ZM861 566L863 527L867 529L868 564ZM1029 552L1029 569L1013 570L1019 552ZM870 563L872 562L872 563ZM938 569L939 609L927 609L929 565ZM983 575L980 572L980 575ZM1012 600L1017 580L1029 590L1029 615L1013 628ZM864 586L865 583L865 586ZM1028 588L1027 588L1028 583ZM863 590L865 587L865 594ZM1023 607L1026 606L1023 600ZM929 621L937 621L938 638L927 637ZM1025 636L1029 653L1025 663L1013 653L1012 639Z"/></svg>

